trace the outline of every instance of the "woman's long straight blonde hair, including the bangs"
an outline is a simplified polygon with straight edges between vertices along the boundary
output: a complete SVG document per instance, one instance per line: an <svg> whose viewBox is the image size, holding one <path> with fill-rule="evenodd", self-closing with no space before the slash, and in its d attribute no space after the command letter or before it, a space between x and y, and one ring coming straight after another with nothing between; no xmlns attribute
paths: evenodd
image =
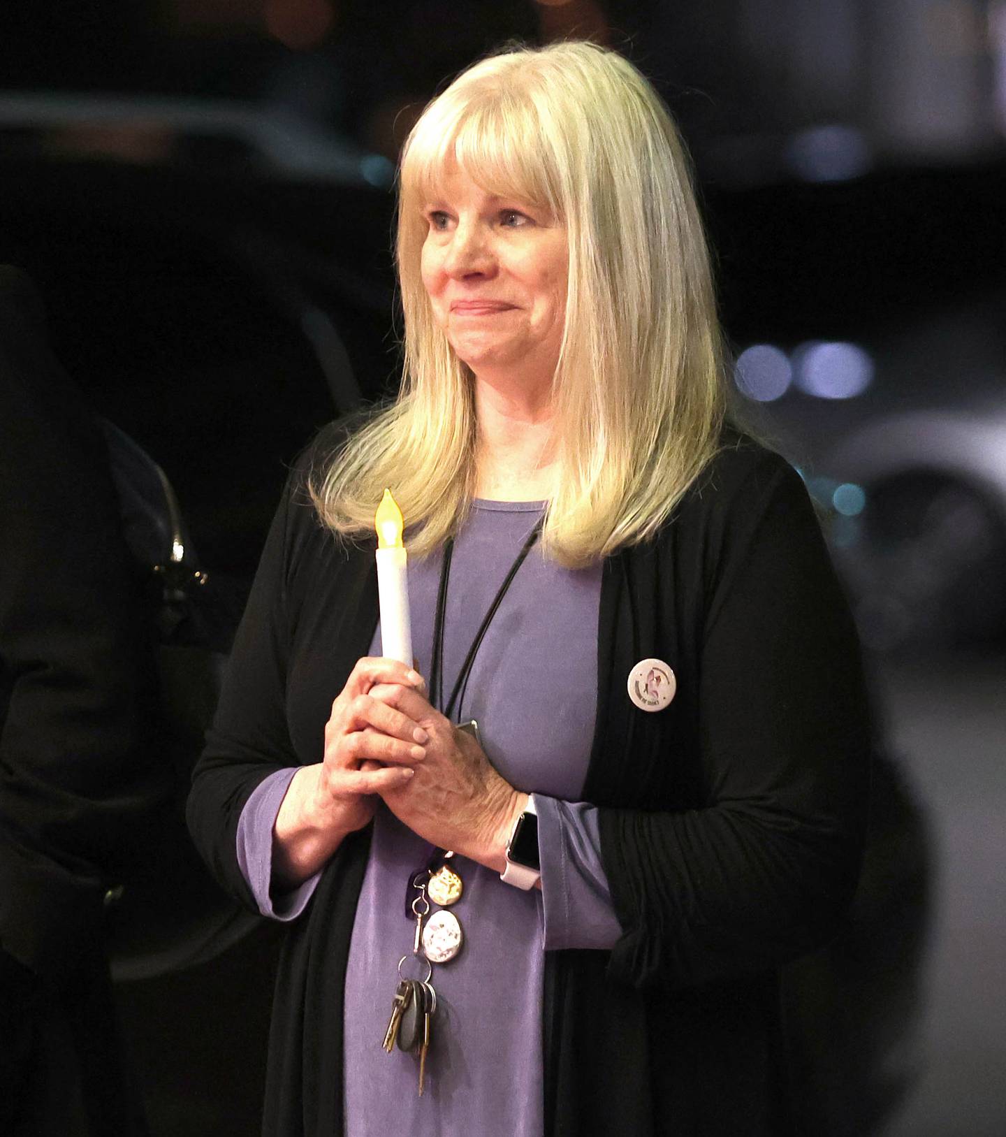
<svg viewBox="0 0 1006 1137"><path fill-rule="evenodd" d="M406 143L398 272L398 399L311 471L323 522L373 531L384 487L425 555L475 483L472 374L421 279L423 206L456 160L489 192L566 227L566 321L552 400L556 491L542 547L575 567L652 536L716 453L725 408L709 257L670 114L625 59L589 43L491 56L435 98Z"/></svg>

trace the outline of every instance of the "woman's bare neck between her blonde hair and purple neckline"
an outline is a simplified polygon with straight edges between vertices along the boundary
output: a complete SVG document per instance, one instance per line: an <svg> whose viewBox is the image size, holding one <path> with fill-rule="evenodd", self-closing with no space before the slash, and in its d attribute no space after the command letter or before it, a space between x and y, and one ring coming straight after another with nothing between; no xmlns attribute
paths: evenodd
<svg viewBox="0 0 1006 1137"><path fill-rule="evenodd" d="M492 501L540 501L551 497L551 399L502 395L476 379L475 412L476 496Z"/></svg>

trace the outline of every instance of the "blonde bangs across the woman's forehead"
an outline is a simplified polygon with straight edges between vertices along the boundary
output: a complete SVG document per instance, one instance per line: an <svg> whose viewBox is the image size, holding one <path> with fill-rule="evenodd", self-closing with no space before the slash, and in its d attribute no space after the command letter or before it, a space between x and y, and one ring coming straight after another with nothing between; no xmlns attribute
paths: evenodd
<svg viewBox="0 0 1006 1137"><path fill-rule="evenodd" d="M443 197L447 173L457 164L487 193L546 208L563 221L554 149L537 108L500 91L480 93L477 101L434 103L423 116L402 160L404 192Z"/></svg>

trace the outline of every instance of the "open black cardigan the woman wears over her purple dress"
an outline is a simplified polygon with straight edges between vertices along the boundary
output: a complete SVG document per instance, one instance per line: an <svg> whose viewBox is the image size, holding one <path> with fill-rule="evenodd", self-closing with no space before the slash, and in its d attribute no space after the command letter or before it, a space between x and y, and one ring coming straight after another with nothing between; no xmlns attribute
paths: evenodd
<svg viewBox="0 0 1006 1137"><path fill-rule="evenodd" d="M318 760L376 623L372 547L323 531L301 481L189 804L207 862L249 904L241 810L272 770ZM601 807L624 935L612 952L549 953L546 1131L789 1132L778 969L824 941L851 897L870 753L856 634L799 478L732 439L659 539L606 562L600 605L584 798ZM677 678L658 713L627 695L650 656ZM368 830L343 843L290 929L267 1135L342 1131L342 987L368 845Z"/></svg>

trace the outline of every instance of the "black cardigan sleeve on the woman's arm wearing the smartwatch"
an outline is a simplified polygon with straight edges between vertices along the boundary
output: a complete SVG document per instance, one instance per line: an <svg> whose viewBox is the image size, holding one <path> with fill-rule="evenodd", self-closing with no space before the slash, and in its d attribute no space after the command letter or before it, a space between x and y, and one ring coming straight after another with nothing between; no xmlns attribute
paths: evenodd
<svg viewBox="0 0 1006 1137"><path fill-rule="evenodd" d="M623 928L609 973L638 987L730 979L809 951L833 935L858 877L867 700L813 507L772 456L713 512L696 646L702 807L601 811Z"/></svg>

